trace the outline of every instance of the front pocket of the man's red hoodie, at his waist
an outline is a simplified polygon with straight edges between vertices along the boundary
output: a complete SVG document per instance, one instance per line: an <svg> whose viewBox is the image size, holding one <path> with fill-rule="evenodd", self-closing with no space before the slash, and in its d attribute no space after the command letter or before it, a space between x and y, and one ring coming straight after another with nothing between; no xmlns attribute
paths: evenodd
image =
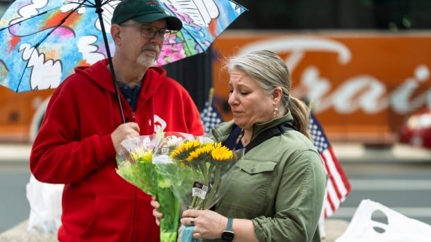
<svg viewBox="0 0 431 242"><path fill-rule="evenodd" d="M97 196L90 213L90 221L81 239L127 241L131 235L133 204L131 198Z"/></svg>

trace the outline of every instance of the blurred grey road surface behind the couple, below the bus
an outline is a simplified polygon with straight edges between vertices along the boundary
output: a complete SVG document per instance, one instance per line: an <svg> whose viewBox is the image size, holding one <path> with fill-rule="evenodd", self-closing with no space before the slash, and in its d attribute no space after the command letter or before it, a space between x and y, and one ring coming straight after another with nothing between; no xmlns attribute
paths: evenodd
<svg viewBox="0 0 431 242"><path fill-rule="evenodd" d="M431 162L341 161L341 164L352 184L352 193L333 218L350 221L361 200L371 199L431 225ZM29 177L27 162L0 162L0 232L28 218Z"/></svg>

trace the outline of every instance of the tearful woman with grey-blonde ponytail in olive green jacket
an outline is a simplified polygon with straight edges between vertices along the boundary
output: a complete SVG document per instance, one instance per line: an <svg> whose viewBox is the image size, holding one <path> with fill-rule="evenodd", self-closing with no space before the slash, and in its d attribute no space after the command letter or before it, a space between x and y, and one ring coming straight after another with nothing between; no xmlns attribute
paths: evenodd
<svg viewBox="0 0 431 242"><path fill-rule="evenodd" d="M256 51L231 58L227 68L234 120L212 135L246 153L224 178L229 183L214 211L186 210L181 223L195 225L195 239L320 241L325 171L308 138L307 108L290 96L286 64ZM161 218L158 202L152 205Z"/></svg>

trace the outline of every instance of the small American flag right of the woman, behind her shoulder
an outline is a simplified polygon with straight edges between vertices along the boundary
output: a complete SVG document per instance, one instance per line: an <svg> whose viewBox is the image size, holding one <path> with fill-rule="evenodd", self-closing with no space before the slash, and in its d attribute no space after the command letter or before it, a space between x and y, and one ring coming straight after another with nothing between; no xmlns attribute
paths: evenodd
<svg viewBox="0 0 431 242"><path fill-rule="evenodd" d="M332 150L332 146L322 126L313 113L311 113L310 116L308 130L314 146L316 146L320 157L323 159L325 172L328 175L325 201L323 202L323 216L327 218L334 214L334 211L338 209L341 202L347 198L351 187L343 168L341 168L339 160L336 159L334 155L334 150Z"/></svg>

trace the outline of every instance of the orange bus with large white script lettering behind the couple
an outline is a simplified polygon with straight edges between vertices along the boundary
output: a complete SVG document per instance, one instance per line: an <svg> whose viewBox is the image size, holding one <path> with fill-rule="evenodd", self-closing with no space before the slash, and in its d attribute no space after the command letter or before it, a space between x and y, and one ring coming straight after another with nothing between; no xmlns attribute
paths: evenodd
<svg viewBox="0 0 431 242"><path fill-rule="evenodd" d="M231 119L222 60L268 49L286 60L292 95L312 101L331 141L394 144L409 114L431 108L430 46L430 31L226 31L213 43L214 103ZM31 141L52 92L0 86L0 141Z"/></svg>

